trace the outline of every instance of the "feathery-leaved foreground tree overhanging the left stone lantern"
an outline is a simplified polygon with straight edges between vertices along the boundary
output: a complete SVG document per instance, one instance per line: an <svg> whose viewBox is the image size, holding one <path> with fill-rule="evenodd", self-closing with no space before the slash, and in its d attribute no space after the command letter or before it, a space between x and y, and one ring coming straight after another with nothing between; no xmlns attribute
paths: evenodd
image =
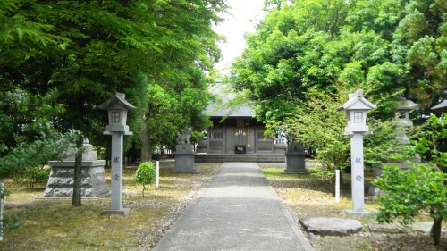
<svg viewBox="0 0 447 251"><path fill-rule="evenodd" d="M114 91L126 93L138 108L128 122L140 131L150 82L165 84L184 65L205 71L219 57L211 22L225 7L219 0L4 1L2 90L54 93L51 105L63 108L54 127L80 130L105 146L105 113L97 105Z"/></svg>

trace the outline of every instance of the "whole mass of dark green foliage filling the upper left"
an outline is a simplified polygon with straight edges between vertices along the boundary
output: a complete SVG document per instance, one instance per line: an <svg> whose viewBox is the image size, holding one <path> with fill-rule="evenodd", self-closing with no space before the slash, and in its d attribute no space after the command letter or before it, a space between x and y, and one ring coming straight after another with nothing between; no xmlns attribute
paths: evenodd
<svg viewBox="0 0 447 251"><path fill-rule="evenodd" d="M145 120L148 130L164 126L148 116L156 87L173 98L160 108L176 119L169 130L202 130L205 72L220 57L221 37L211 27L225 9L223 0L1 1L0 155L44 137L46 128L80 130L106 146L97 105L115 91L137 107L128 119L133 141Z"/></svg>

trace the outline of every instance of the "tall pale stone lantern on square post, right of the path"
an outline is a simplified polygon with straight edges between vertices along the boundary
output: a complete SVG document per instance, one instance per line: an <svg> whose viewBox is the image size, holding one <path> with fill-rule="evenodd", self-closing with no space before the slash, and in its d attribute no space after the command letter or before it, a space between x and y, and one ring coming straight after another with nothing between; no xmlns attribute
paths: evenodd
<svg viewBox="0 0 447 251"><path fill-rule="evenodd" d="M367 110L375 107L363 96L363 90L359 89L351 93L349 100L337 109L346 111L348 119L344 134L350 136L352 211L349 213L352 214L367 213L365 211L363 135L370 133L367 126Z"/></svg>

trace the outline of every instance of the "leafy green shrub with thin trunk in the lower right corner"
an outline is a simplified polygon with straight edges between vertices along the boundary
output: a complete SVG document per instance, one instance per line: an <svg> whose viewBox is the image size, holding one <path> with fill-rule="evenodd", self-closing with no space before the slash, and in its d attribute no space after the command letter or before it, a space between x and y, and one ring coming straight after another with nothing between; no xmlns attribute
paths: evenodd
<svg viewBox="0 0 447 251"><path fill-rule="evenodd" d="M442 222L447 217L446 182L444 173L433 165L410 163L409 170L384 165L382 177L373 182L383 191L375 196L380 205L376 220L389 223L397 219L409 224L420 212L430 213L434 219L431 235L434 245L439 245Z"/></svg>

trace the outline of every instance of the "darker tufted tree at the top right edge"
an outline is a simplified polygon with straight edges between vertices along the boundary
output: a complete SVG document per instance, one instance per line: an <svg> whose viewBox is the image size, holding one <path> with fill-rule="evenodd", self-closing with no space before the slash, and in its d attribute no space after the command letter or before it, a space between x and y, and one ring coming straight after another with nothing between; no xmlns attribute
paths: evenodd
<svg viewBox="0 0 447 251"><path fill-rule="evenodd" d="M424 108L436 105L447 88L447 4L443 0L411 0L396 29L408 48L409 92Z"/></svg>

